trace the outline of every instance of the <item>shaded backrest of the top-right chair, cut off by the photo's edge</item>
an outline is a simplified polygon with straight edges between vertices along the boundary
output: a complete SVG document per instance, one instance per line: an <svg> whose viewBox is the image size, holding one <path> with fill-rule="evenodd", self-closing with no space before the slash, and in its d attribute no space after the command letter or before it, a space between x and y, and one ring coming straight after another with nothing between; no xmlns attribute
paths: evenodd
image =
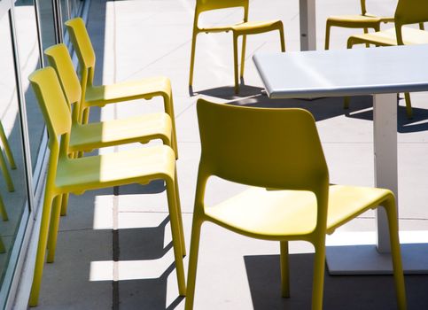
<svg viewBox="0 0 428 310"><path fill-rule="evenodd" d="M395 9L394 19L397 43L403 45L401 27L403 25L420 24L428 21L428 1L399 0Z"/></svg>

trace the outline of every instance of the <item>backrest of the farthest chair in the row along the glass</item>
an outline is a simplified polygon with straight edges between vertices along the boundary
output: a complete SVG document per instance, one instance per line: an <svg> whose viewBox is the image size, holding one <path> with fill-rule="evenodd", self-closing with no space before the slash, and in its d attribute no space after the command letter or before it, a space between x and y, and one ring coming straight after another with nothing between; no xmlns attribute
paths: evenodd
<svg viewBox="0 0 428 310"><path fill-rule="evenodd" d="M80 17L66 21L66 28L70 40L73 43L79 66L82 70L82 89L86 84L92 85L95 71L95 51L90 42L89 34L85 22ZM83 89L84 91L84 89Z"/></svg>

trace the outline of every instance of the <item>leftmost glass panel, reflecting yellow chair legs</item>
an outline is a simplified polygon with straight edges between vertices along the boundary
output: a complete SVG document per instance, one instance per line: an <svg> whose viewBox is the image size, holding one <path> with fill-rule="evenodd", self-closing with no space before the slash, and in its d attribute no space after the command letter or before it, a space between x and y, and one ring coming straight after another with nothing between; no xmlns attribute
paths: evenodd
<svg viewBox="0 0 428 310"><path fill-rule="evenodd" d="M5 281L6 271L13 270L17 262L17 238L19 223L28 219L27 178L22 150L22 133L19 121L12 37L9 16L0 18L0 283L2 285L0 307L10 288L10 278ZM4 134L4 135L3 135ZM10 151L10 152L9 152ZM7 156L9 155L9 156ZM21 226L22 227L22 226ZM12 248L14 248L12 252ZM12 254L13 253L13 254Z"/></svg>

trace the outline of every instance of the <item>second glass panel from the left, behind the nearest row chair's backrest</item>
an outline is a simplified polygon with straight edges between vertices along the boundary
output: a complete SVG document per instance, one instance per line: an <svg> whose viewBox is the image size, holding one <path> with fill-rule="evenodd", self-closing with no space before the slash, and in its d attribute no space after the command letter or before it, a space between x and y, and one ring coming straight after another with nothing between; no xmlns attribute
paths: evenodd
<svg viewBox="0 0 428 310"><path fill-rule="evenodd" d="M43 1L48 2L48 1ZM15 29L17 33L19 64L21 67L22 91L26 99L28 133L33 171L39 153L44 130L42 112L29 88L28 75L40 66L40 50L33 0L18 0L15 3Z"/></svg>

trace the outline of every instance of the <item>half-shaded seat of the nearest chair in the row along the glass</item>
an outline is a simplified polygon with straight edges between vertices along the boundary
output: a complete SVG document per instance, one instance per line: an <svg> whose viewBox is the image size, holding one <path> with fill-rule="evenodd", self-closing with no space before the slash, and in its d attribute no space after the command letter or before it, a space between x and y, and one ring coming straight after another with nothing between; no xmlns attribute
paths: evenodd
<svg viewBox="0 0 428 310"><path fill-rule="evenodd" d="M59 160L55 184L59 190L80 194L158 177L175 178L175 153L167 145Z"/></svg>

